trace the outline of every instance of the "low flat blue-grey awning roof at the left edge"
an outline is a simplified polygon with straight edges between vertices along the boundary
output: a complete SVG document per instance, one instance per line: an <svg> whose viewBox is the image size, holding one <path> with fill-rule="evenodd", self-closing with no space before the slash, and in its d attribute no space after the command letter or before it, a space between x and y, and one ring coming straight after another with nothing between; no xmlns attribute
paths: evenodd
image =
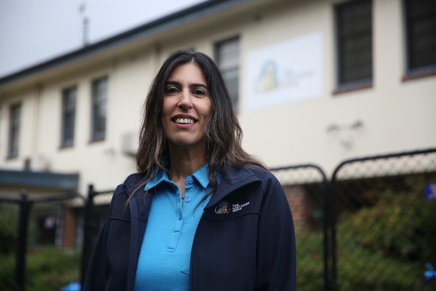
<svg viewBox="0 0 436 291"><path fill-rule="evenodd" d="M0 188L13 186L52 190L77 190L79 174L0 170Z"/></svg>

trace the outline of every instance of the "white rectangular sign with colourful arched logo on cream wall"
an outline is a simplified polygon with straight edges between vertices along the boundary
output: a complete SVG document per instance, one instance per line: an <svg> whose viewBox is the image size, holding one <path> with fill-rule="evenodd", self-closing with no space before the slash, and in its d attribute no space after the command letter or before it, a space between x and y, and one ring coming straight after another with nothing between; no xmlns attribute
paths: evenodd
<svg viewBox="0 0 436 291"><path fill-rule="evenodd" d="M315 32L251 51L247 59L249 110L320 97L322 34Z"/></svg>

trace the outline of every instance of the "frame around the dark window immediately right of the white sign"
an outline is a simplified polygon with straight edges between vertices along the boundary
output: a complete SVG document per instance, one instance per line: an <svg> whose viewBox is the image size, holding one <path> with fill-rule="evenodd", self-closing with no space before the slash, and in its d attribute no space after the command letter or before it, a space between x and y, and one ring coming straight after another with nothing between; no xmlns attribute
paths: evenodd
<svg viewBox="0 0 436 291"><path fill-rule="evenodd" d="M351 81L341 81L341 65L342 65L342 52L341 52L341 36L339 33L339 26L341 25L339 23L339 9L343 9L343 7L346 6L352 6L356 5L357 2L369 2L369 5L371 7L371 76L365 77L357 80L351 80ZM355 91L355 90L361 90L361 89L367 89L371 88L373 86L373 78L374 78L374 43L373 43L373 1L372 0L354 0L354 1L347 1L343 3L339 3L333 7L334 10L334 29L335 29L335 54L336 54L336 90L333 92L333 94L348 92L348 91Z"/></svg>

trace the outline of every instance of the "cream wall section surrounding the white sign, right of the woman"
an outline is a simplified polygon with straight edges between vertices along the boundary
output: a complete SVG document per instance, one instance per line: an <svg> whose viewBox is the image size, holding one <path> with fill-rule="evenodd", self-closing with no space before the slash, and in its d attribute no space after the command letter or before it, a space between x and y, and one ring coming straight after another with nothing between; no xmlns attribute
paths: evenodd
<svg viewBox="0 0 436 291"><path fill-rule="evenodd" d="M328 175L347 158L435 147L436 77L401 81L405 70L401 1L373 2L373 87L339 95L332 95L336 82L333 8L327 1L316 3L300 2L293 11L265 16L243 30L245 56L250 50L314 31L322 32L324 52L324 89L318 99L247 111L246 79L241 74L244 147L272 167L310 162ZM244 72L246 57L242 61ZM358 130L326 131L331 123L351 124L358 119L364 124ZM350 148L341 145L343 141L351 142Z"/></svg>

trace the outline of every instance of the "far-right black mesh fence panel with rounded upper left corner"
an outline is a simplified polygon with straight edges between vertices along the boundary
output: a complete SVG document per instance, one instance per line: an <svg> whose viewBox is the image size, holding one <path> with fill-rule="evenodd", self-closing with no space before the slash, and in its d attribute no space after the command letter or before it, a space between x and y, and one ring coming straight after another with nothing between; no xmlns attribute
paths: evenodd
<svg viewBox="0 0 436 291"><path fill-rule="evenodd" d="M344 161L331 186L337 289L423 289L436 263L436 149Z"/></svg>

